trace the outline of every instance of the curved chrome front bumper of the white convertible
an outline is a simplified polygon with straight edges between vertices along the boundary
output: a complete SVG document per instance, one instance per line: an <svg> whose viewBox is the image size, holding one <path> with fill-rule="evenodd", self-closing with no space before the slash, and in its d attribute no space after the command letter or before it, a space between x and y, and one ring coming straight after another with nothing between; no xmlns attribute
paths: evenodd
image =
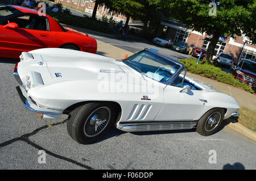
<svg viewBox="0 0 256 181"><path fill-rule="evenodd" d="M20 99L22 100L22 103L24 104L24 106L25 106L28 110L35 111L35 112L38 112L38 113L45 113L45 114L61 114L60 111L57 111L57 112L48 112L48 111L46 111L47 109L38 107L36 104L32 103L32 101L29 100L30 98L26 98L26 97L23 95L23 92L24 92L24 91L22 92L21 89L24 89L24 87L22 87L22 86L17 86L17 87L16 87L16 90L18 91L18 94L19 94ZM35 110L35 109L32 108L31 106L37 107L38 110ZM52 111L52 110L51 110L51 111Z"/></svg>

